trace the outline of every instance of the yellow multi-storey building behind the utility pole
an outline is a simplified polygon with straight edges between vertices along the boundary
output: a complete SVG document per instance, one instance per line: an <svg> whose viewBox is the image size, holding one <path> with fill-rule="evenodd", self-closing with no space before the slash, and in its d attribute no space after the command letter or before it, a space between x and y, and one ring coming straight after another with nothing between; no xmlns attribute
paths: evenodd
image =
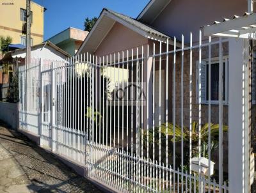
<svg viewBox="0 0 256 193"><path fill-rule="evenodd" d="M0 36L11 36L13 44L26 45L26 0L0 1ZM31 1L31 45L44 40L45 8Z"/></svg>

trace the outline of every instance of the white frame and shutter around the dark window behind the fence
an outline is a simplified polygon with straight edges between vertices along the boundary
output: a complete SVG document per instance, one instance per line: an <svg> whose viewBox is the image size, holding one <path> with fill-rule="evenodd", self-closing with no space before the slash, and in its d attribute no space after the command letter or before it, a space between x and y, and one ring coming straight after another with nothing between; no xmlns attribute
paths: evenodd
<svg viewBox="0 0 256 193"><path fill-rule="evenodd" d="M202 62L204 62L205 66L209 65L209 59L205 58L202 59ZM223 63L225 63L225 100L223 100L224 105L228 105L228 68L229 68L229 63L228 63L228 56L223 56ZM214 57L211 58L211 65L214 64L220 64L220 58L219 57ZM205 67L205 82L201 82L201 84L205 84L205 96L201 98L205 98L205 100L201 100L201 104L209 104L209 100L206 99L207 96L207 68ZM198 93L199 93L199 61L196 61L196 102L199 104L199 98L198 98ZM218 105L219 100L211 100L212 105Z"/></svg>

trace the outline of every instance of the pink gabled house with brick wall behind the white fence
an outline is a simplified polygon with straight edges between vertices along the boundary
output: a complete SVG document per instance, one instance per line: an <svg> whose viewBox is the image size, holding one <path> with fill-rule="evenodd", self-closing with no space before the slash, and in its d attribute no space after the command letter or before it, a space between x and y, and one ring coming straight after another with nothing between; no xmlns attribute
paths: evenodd
<svg viewBox="0 0 256 193"><path fill-rule="evenodd" d="M220 118L218 100L220 70L219 38L212 37L212 42L214 43L211 45L211 59L209 59L209 46L202 46L201 69L199 69L198 65L200 60L199 48L193 49L192 58L190 58L191 52L189 49L184 50L183 53L181 51L177 52L177 54L175 54L175 60L173 54L170 53L168 54L168 62L166 61L166 57L160 58L157 54L166 51L167 40L169 50L181 50L182 41L184 42L184 47L188 48L191 38L192 45L198 45L200 27L213 24L215 21L222 21L223 18L230 19L233 18L234 15L244 15L246 10L247 1L243 0L236 0L235 2L230 0L196 2L152 0L136 19L105 9L100 13L97 23L84 40L77 52L77 56L89 52L90 54L95 54L98 58L104 58L105 61L107 56L108 60L112 58L112 61L107 61L107 63L112 63L113 61L117 63L118 54L122 56L122 52L126 52L126 50L129 50L129 59L131 59L132 53L134 58L137 56L139 56L139 58L141 56L147 57L147 54L153 56L142 63L144 68L143 82L149 85L148 88L144 88L144 90L145 93L149 93L148 104L152 104L148 109L147 107L141 107L143 110L140 110L144 112L143 118L141 118L143 122L141 123L141 127L144 129L158 127L165 123L166 119L169 123L175 123L175 125L179 127L183 125L187 129L189 128L190 118L192 122L200 122L202 125L205 125L209 122L209 98L211 98L211 123L218 124ZM190 34L193 36L191 37ZM182 40L181 35L184 35L184 40ZM204 35L202 36L203 44L208 43L208 38L209 37L205 37ZM176 47L174 47L174 45L176 45ZM143 47L143 49L141 49L141 47ZM230 93L228 93L228 69L230 68L230 63L228 59L228 40L225 40L225 38L221 40L221 49L223 52L222 122L223 125L228 125L228 98L230 97ZM136 52L136 50L138 50L138 52ZM120 60L122 61L122 59L121 57ZM127 58L125 57L124 61L125 59ZM211 61L211 96L208 96L209 61ZM173 77L174 63L175 77ZM181 65L182 63L184 65L183 67ZM167 65L169 66L168 68ZM193 66L192 78L189 72L190 65ZM116 68L120 67L116 66ZM252 73L254 77L256 71L255 68L253 69ZM136 67L129 66L128 71L127 73L130 74L129 82L136 81L136 78L134 78L136 77ZM133 77L131 75L132 73ZM200 80L199 73L201 73ZM190 78L192 82L191 102L189 100ZM111 79L111 77L109 77L109 79ZM200 91L200 105L199 82L202 87ZM255 91L254 83L252 84L252 91ZM161 93L160 95L159 92ZM168 93L168 96L166 96L166 93ZM253 100L255 99L253 98ZM190 104L192 104L192 112L190 112ZM136 112L136 107L131 107L131 109L130 111ZM253 106L253 120L255 120L254 109ZM166 110L168 110L168 115L166 115ZM146 114L147 111L148 115ZM134 120L138 117L136 114L133 116ZM138 123L133 121L132 124L133 126L129 129L134 129L134 138L136 138L135 130L136 124ZM223 166L224 171L227 172L227 132L223 134L223 147L223 155L225 157L223 159ZM218 169L218 151L214 153L214 157L214 162L217 163L215 167Z"/></svg>

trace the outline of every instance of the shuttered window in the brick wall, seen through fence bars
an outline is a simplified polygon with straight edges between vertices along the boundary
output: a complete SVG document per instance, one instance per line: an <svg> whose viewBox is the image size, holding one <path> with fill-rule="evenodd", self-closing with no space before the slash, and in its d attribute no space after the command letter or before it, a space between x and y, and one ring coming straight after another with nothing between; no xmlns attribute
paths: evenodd
<svg viewBox="0 0 256 193"><path fill-rule="evenodd" d="M207 104L209 99L211 103L219 102L219 70L220 61L218 58L211 61L211 96L209 97L209 62L207 60L201 63L201 101L202 104ZM199 88L199 63L197 62L197 75L196 75L196 93L198 100ZM228 103L228 58L223 58L223 103Z"/></svg>

